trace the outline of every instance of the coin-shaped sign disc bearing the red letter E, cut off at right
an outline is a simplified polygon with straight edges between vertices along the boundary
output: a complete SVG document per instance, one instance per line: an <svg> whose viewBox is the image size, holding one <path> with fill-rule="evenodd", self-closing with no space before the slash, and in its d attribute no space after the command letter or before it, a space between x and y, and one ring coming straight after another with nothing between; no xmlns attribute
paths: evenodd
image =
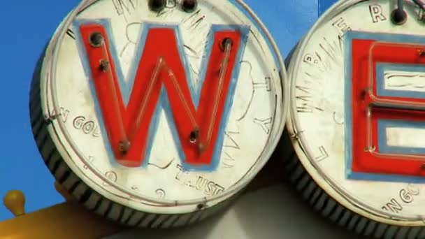
<svg viewBox="0 0 425 239"><path fill-rule="evenodd" d="M421 1L340 1L289 65L292 180L323 214L378 238L425 236Z"/></svg>

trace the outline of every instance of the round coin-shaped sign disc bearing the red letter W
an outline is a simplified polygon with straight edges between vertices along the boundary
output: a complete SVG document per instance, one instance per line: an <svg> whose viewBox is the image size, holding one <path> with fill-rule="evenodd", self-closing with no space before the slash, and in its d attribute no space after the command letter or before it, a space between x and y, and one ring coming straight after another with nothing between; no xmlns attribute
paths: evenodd
<svg viewBox="0 0 425 239"><path fill-rule="evenodd" d="M241 1L83 1L31 91L38 147L87 208L131 226L190 224L266 164L289 89Z"/></svg>

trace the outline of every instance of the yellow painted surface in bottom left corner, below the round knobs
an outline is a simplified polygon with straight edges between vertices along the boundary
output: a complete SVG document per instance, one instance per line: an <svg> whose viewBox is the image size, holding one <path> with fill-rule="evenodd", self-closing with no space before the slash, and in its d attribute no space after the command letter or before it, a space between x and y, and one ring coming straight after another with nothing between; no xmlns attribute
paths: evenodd
<svg viewBox="0 0 425 239"><path fill-rule="evenodd" d="M76 203L61 203L0 223L1 239L101 238L124 229Z"/></svg>

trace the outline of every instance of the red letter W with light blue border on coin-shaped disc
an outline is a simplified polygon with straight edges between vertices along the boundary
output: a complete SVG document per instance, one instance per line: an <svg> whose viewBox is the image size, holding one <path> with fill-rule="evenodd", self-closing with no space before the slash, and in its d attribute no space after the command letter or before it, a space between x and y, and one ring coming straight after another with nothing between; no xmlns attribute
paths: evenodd
<svg viewBox="0 0 425 239"><path fill-rule="evenodd" d="M200 87L195 87L178 27L144 25L126 82L108 20L75 23L82 63L100 109L103 138L120 164L146 165L159 110L164 110L176 132L174 142L185 168L214 170L249 27L212 26L199 73Z"/></svg>

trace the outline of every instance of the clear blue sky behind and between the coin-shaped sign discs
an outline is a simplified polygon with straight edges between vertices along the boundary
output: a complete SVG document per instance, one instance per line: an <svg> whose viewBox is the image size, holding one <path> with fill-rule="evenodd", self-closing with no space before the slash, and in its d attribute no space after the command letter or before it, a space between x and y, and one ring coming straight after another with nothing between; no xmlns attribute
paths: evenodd
<svg viewBox="0 0 425 239"><path fill-rule="evenodd" d="M139 0L143 1L143 0ZM319 3L317 2L319 1ZM268 27L282 54L335 0L245 0ZM29 123L29 85L43 46L79 0L3 1L0 8L0 197L19 189L33 212L63 202L38 153ZM270 5L268 5L270 4ZM1 199L2 200L2 199ZM2 204L2 203L1 203ZM0 205L0 221L13 215Z"/></svg>

